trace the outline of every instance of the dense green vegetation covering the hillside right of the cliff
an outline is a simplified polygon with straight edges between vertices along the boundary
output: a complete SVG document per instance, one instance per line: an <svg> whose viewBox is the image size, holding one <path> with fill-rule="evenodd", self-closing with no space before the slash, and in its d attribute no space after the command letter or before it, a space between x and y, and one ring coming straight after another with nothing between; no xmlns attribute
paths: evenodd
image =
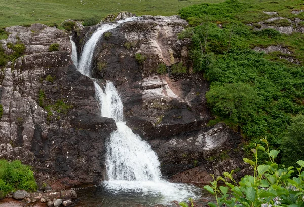
<svg viewBox="0 0 304 207"><path fill-rule="evenodd" d="M216 121L225 120L249 137L252 141L248 149L267 136L272 147L284 148L282 161L288 166L295 164L285 154L292 148L281 142L283 137L289 137L283 143L290 142L290 131L295 129L292 120L301 119L299 114L304 112L304 34L257 29L260 24L256 23L272 18L264 11L302 21L303 12L292 14L301 9L303 5L297 1L227 0L193 5L179 12L191 24L179 38L191 37L193 70L203 72L210 81L206 97ZM288 52L265 54L252 50L269 46ZM298 64L290 61L294 59Z"/></svg>

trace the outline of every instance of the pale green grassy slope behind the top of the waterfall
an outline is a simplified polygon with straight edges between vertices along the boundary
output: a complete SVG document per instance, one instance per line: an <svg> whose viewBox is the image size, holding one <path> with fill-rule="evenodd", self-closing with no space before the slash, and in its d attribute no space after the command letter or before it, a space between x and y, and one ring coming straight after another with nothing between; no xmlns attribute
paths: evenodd
<svg viewBox="0 0 304 207"><path fill-rule="evenodd" d="M222 0L0 0L0 27L33 23L53 24L66 19L103 18L108 14L128 11L136 15L175 15L193 4L219 3Z"/></svg>

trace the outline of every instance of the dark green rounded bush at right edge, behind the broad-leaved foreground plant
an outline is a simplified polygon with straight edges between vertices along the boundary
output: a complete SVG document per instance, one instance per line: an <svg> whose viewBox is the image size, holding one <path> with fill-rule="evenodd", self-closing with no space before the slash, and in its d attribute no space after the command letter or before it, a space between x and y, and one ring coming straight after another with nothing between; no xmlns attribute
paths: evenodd
<svg viewBox="0 0 304 207"><path fill-rule="evenodd" d="M280 149L283 151L282 163L295 166L297 160L304 160L304 115L291 118L291 124L282 139Z"/></svg>

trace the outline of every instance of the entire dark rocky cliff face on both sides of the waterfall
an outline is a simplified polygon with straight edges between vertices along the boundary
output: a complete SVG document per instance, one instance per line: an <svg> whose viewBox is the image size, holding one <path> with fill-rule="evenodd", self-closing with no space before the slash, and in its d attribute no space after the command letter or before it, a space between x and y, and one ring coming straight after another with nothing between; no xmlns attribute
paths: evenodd
<svg viewBox="0 0 304 207"><path fill-rule="evenodd" d="M241 136L224 124L207 127L213 118L208 83L189 73L189 40L177 39L186 26L177 16L143 16L120 25L98 42L92 74L115 83L127 124L153 146L165 176L204 183L209 173L244 167L236 150ZM74 32L79 54L97 28ZM41 24L6 30L6 53L12 53L8 42L22 42L26 50L2 72L0 158L32 165L41 181L105 179L105 142L116 125L99 116L93 82L71 62L68 34ZM59 51L49 52L52 43Z"/></svg>

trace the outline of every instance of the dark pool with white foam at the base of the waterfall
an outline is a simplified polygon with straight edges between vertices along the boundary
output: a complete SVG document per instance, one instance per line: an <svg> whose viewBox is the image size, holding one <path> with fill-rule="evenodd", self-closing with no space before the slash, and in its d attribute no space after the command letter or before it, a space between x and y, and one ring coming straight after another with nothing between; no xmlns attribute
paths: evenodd
<svg viewBox="0 0 304 207"><path fill-rule="evenodd" d="M72 206L77 207L167 206L172 201L187 201L189 198L195 200L196 206L206 206L207 202L214 201L199 187L167 181L104 181L100 185L77 188L76 191L78 199Z"/></svg>

